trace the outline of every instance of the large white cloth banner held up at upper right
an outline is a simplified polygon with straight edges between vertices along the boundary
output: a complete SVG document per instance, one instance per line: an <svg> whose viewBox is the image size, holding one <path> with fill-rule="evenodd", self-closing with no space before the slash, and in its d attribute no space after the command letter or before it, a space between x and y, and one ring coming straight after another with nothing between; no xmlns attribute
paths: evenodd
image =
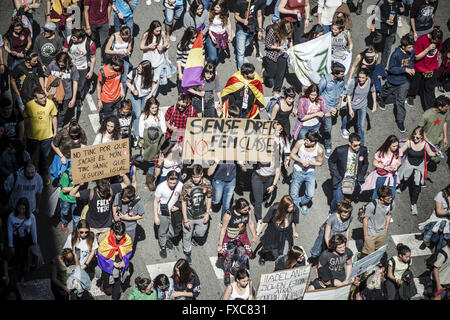
<svg viewBox="0 0 450 320"><path fill-rule="evenodd" d="M347 74L352 62L352 53L346 50L332 50L333 39L335 45L340 47L339 41L342 38L332 38L331 32L328 32L287 50L289 63L302 85L308 87L311 84L318 84L320 78L331 73L332 61L342 63Z"/></svg>

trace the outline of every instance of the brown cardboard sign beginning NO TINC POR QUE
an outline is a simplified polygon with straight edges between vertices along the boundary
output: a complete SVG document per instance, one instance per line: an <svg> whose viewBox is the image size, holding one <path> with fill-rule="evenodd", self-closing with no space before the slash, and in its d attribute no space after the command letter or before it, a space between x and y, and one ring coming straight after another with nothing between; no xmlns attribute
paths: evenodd
<svg viewBox="0 0 450 320"><path fill-rule="evenodd" d="M117 176L130 171L128 139L72 149L74 184Z"/></svg>

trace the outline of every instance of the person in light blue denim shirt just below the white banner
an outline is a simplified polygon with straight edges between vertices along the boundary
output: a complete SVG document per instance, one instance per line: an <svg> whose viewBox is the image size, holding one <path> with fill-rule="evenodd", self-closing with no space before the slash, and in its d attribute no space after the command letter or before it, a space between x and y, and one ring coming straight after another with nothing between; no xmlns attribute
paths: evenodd
<svg viewBox="0 0 450 320"><path fill-rule="evenodd" d="M325 100L326 106L334 117L341 109L342 93L345 88L345 66L340 62L332 62L331 74L326 74L319 82L319 95ZM332 117L324 119L325 158L331 155Z"/></svg>

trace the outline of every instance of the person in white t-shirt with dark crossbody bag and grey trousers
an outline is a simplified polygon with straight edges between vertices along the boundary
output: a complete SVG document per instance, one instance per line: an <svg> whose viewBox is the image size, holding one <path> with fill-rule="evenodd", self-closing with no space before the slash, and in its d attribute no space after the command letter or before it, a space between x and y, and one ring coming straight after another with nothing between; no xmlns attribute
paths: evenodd
<svg viewBox="0 0 450 320"><path fill-rule="evenodd" d="M166 246L173 248L170 240L174 236L171 216L172 214L181 214L181 206L177 205L178 199L183 188L183 183L178 181L178 173L171 170L167 174L167 180L160 183L155 191L153 202L155 225L159 226L159 255L161 258L167 258Z"/></svg>

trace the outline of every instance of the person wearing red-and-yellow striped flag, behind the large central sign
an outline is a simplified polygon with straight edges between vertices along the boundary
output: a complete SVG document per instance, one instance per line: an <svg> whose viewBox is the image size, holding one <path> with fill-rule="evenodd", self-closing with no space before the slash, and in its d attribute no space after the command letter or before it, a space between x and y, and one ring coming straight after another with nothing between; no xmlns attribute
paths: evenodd
<svg viewBox="0 0 450 320"><path fill-rule="evenodd" d="M234 73L222 90L222 118L228 117L228 107L236 105L240 109L239 118L259 119L264 108L264 92L261 78L255 72L255 66L244 63L240 71Z"/></svg>

